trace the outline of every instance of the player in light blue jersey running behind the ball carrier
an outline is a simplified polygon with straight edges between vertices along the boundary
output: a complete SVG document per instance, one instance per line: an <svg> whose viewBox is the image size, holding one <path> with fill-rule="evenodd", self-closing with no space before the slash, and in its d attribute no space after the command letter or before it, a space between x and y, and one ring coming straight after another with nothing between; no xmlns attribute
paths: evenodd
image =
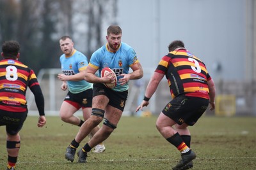
<svg viewBox="0 0 256 170"><path fill-rule="evenodd" d="M68 89L68 94L61 104L60 117L64 122L80 127L84 121L76 117L74 113L82 108L84 120L87 120L92 113L92 83L84 80L84 70L88 65L88 59L74 48L74 43L69 36L61 37L60 48L63 52L60 56L63 73L58 74L58 78L63 82L61 89L64 91ZM90 138L99 129L99 126L92 129ZM100 143L95 147L94 152L100 153L105 150L103 143Z"/></svg>

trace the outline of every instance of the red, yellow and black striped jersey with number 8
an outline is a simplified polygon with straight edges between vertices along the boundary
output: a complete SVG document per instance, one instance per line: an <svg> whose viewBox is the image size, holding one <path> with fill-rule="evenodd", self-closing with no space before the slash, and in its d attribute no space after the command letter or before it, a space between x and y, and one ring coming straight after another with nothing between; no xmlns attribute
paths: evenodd
<svg viewBox="0 0 256 170"><path fill-rule="evenodd" d="M39 94L42 92L31 68L18 60L4 59L0 61L0 110L26 111L26 90L28 87L35 87L33 90L38 90ZM44 114L44 110L39 112Z"/></svg>

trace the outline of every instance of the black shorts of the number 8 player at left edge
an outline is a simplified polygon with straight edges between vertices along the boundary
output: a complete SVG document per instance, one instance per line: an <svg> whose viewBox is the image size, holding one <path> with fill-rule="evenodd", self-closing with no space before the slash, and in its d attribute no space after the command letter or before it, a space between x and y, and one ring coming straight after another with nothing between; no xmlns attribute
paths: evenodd
<svg viewBox="0 0 256 170"><path fill-rule="evenodd" d="M24 124L28 115L26 112L11 112L0 110L0 126L6 126L6 132L11 135L17 134Z"/></svg>

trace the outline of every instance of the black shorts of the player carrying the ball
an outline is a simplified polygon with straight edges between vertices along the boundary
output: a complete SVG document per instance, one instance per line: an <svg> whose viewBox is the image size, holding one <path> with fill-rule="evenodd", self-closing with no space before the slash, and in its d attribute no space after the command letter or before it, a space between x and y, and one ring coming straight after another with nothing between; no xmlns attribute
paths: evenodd
<svg viewBox="0 0 256 170"><path fill-rule="evenodd" d="M108 89L102 83L93 84L93 97L98 95L105 95L109 99L109 105L117 108L118 110L124 111L125 101L127 100L128 90L124 92L116 92Z"/></svg>

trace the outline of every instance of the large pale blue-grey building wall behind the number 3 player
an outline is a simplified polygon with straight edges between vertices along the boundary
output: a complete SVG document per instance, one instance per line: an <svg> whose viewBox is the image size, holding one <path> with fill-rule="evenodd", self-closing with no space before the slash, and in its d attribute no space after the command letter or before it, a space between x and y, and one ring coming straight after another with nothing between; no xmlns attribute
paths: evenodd
<svg viewBox="0 0 256 170"><path fill-rule="evenodd" d="M131 45L145 71L154 71L175 39L204 60L214 78L244 78L246 1L119 0L122 40ZM221 70L216 70L220 64ZM154 69L153 69L154 68Z"/></svg>

